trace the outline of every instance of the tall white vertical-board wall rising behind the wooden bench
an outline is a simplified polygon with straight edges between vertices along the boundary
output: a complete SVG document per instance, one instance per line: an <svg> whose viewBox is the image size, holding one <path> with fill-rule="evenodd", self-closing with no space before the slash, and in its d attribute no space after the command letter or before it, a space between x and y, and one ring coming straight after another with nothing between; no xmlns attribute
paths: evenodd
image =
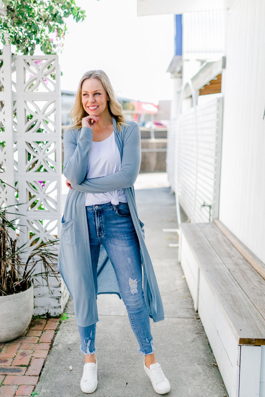
<svg viewBox="0 0 265 397"><path fill-rule="evenodd" d="M265 2L228 14L219 219L265 262Z"/></svg>

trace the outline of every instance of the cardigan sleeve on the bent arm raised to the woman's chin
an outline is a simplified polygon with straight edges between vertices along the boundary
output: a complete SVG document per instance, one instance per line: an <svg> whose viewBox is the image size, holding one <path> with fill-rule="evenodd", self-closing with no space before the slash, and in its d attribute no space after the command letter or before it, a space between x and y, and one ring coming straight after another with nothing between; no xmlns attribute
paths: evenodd
<svg viewBox="0 0 265 397"><path fill-rule="evenodd" d="M64 133L64 175L71 183L79 185L87 175L88 152L93 140L93 131L82 127L77 140L74 130Z"/></svg>

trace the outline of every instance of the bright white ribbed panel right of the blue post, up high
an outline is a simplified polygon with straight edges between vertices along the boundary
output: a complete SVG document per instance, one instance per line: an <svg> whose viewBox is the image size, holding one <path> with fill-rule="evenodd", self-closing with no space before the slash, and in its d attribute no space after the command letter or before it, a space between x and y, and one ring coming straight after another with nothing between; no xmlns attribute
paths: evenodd
<svg viewBox="0 0 265 397"><path fill-rule="evenodd" d="M227 10L183 14L183 53L224 53Z"/></svg>

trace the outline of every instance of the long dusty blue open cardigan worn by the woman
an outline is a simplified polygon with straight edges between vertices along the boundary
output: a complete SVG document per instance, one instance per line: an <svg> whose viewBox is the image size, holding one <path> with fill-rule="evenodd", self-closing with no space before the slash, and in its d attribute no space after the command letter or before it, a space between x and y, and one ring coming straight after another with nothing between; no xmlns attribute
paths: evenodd
<svg viewBox="0 0 265 397"><path fill-rule="evenodd" d="M74 301L77 324L82 327L95 324L97 297L93 281L89 235L85 210L85 192L100 193L124 189L133 224L139 239L143 264L143 291L149 316L155 322L164 320L164 310L153 265L144 242L143 224L139 221L133 183L141 162L141 137L137 123L128 121L117 130L112 118L115 140L121 155L120 171L101 178L85 179L89 148L93 131L88 127L67 130L64 133L64 175L71 181L62 218L58 269ZM101 246L98 264L98 293L116 293L120 297L117 279Z"/></svg>

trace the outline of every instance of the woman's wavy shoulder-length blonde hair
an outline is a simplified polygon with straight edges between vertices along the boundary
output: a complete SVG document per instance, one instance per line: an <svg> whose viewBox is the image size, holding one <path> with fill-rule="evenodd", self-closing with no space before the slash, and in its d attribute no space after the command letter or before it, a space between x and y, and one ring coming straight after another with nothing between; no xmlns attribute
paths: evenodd
<svg viewBox="0 0 265 397"><path fill-rule="evenodd" d="M79 85L77 87L77 91L75 94L75 102L74 105L70 111L70 116L71 116L71 125L69 125L66 129L73 129L73 128L81 128L82 126L82 118L88 116L87 112L83 108L82 104L82 85L83 82L87 79L98 79L101 81L104 90L106 91L108 95L108 111L110 112L110 115L114 117L117 123L117 129L118 131L121 131L122 125L126 125L125 123L125 118L122 113L122 105L116 100L114 90L112 88L112 85L110 84L110 80L106 73L103 70L90 70L88 72L85 72L83 76L81 77L81 80L79 82Z"/></svg>

